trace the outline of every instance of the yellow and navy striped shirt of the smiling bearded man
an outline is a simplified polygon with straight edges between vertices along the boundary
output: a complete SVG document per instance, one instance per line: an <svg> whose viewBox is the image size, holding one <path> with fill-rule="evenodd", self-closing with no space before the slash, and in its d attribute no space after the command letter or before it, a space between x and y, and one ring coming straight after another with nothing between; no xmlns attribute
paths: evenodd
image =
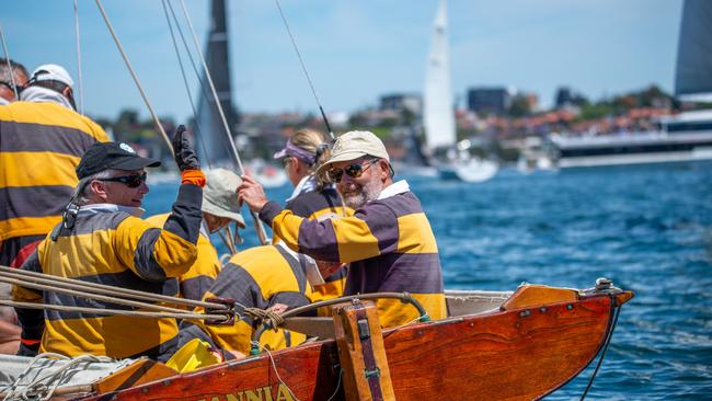
<svg viewBox="0 0 712 401"><path fill-rule="evenodd" d="M410 293L432 319L446 318L443 272L430 224L404 181L391 185L391 196L370 200L349 217L308 220L267 202L260 218L295 252L351 263L344 295ZM400 300L381 299L377 306L382 326L417 318L415 309Z"/></svg>

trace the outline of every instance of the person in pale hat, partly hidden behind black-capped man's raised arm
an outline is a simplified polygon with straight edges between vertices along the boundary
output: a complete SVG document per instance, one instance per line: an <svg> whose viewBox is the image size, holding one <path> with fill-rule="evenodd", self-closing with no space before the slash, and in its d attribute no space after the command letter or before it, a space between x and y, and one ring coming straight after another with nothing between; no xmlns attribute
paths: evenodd
<svg viewBox="0 0 712 401"><path fill-rule="evenodd" d="M205 172L206 184L203 188L203 222L198 236L198 256L187 273L179 277L181 297L200 300L213 286L220 273L218 252L210 243L210 233L216 232L234 221L239 228L244 228L244 218L240 215L238 205L238 185L240 177L226 169L214 169ZM146 219L151 225L162 227L169 214L156 215Z"/></svg>

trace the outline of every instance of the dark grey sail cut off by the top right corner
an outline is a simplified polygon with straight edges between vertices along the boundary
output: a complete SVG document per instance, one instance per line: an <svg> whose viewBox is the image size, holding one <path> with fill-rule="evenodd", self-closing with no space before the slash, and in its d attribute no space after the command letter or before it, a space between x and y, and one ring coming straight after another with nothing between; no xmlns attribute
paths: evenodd
<svg viewBox="0 0 712 401"><path fill-rule="evenodd" d="M686 101L712 101L712 1L685 0L675 94Z"/></svg>

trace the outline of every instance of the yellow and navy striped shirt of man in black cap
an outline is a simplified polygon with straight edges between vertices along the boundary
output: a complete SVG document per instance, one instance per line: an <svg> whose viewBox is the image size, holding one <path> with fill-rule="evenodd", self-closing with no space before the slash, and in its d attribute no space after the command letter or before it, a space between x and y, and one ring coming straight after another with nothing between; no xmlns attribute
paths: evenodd
<svg viewBox="0 0 712 401"><path fill-rule="evenodd" d="M80 209L71 230L55 229L22 265L23 270L146 293L176 296L177 279L195 263L202 188L183 184L162 229L118 210L116 205ZM54 232L53 232L54 233ZM105 301L15 286L16 301L100 309L131 309ZM41 352L67 356L148 356L165 360L175 351L177 324L171 318L104 316L16 309L23 339L42 336Z"/></svg>

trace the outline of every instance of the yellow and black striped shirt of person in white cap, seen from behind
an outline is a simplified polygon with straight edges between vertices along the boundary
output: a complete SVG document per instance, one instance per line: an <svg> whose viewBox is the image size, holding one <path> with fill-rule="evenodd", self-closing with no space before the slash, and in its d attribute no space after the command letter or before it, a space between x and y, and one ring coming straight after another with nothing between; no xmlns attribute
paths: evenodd
<svg viewBox="0 0 712 401"><path fill-rule="evenodd" d="M46 234L78 180L74 168L104 130L56 103L0 106L0 241Z"/></svg>

